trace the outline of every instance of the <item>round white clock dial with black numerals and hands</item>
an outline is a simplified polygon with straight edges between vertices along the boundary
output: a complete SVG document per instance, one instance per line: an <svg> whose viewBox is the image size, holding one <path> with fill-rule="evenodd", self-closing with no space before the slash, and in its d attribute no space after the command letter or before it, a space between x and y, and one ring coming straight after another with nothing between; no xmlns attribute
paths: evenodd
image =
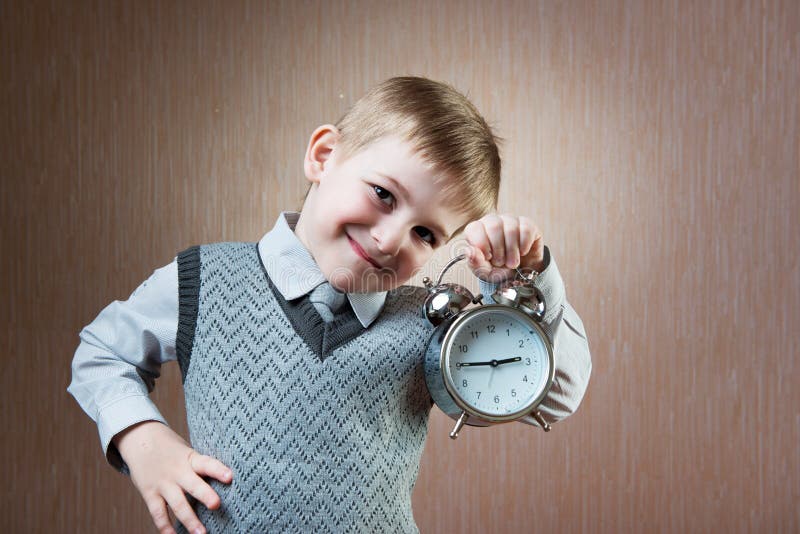
<svg viewBox="0 0 800 534"><path fill-rule="evenodd" d="M447 337L445 383L467 408L489 417L516 417L545 394L552 350L538 325L519 310L476 308L454 323Z"/></svg>

